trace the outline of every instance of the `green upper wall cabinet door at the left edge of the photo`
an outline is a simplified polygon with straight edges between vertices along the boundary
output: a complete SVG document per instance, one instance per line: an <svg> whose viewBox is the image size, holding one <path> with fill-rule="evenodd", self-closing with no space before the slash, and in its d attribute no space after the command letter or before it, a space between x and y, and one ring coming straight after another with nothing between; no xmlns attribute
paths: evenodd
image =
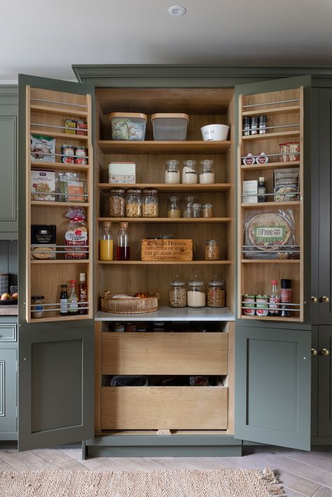
<svg viewBox="0 0 332 497"><path fill-rule="evenodd" d="M18 88L0 86L0 239L18 238Z"/></svg>

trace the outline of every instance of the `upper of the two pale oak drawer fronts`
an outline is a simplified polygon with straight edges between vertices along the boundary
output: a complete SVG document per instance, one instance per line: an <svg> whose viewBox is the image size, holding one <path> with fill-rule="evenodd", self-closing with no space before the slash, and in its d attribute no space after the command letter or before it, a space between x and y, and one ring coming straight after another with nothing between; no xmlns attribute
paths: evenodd
<svg viewBox="0 0 332 497"><path fill-rule="evenodd" d="M228 334L104 332L102 374L228 374Z"/></svg>

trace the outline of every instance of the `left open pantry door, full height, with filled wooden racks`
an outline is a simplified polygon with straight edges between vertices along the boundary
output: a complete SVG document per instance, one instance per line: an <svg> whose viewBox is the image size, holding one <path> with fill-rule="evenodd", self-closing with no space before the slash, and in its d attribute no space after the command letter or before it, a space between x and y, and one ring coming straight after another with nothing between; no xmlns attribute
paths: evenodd
<svg viewBox="0 0 332 497"><path fill-rule="evenodd" d="M93 437L93 92L19 76L19 450Z"/></svg>

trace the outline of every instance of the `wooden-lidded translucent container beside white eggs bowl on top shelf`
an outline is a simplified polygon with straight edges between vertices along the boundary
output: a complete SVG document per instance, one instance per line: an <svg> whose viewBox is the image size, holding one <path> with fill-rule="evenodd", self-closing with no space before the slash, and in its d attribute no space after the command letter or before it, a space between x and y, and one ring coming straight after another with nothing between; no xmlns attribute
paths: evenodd
<svg viewBox="0 0 332 497"><path fill-rule="evenodd" d="M153 139L185 140L187 135L188 114L158 113L151 116Z"/></svg>

